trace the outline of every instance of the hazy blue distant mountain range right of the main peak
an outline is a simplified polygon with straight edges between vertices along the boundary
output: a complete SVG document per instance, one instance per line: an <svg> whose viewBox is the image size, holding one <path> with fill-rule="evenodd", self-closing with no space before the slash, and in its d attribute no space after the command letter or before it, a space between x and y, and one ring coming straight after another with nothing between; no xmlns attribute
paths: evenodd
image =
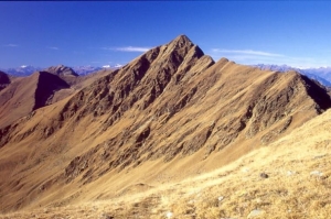
<svg viewBox="0 0 331 219"><path fill-rule="evenodd" d="M320 67L320 68L296 68L288 65L265 65L258 64L253 65L263 70L277 70L286 73L288 70L296 70L307 77L318 80L320 84L331 87L331 67Z"/></svg>

